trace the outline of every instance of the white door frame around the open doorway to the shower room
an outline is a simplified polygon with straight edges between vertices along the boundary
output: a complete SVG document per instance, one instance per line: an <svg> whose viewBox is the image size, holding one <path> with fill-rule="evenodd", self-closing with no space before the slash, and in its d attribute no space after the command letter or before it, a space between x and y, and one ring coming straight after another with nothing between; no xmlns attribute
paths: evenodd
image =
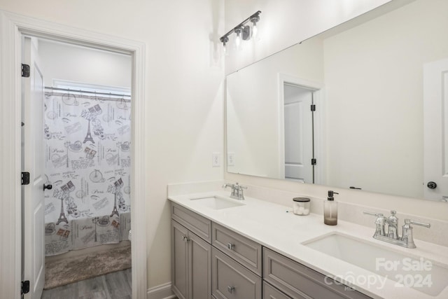
<svg viewBox="0 0 448 299"><path fill-rule="evenodd" d="M147 295L145 190L145 43L0 10L0 289L20 298L22 272L21 53L22 34L132 55L132 298ZM17 125L11 125L17 124ZM139 125L137 125L139 124Z"/></svg>

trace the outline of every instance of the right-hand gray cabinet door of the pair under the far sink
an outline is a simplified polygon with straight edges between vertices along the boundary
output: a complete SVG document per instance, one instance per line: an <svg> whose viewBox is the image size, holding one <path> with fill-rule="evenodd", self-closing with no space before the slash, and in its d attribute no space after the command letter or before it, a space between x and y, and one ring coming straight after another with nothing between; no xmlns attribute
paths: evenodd
<svg viewBox="0 0 448 299"><path fill-rule="evenodd" d="M188 232L190 299L209 299L211 295L211 245Z"/></svg>

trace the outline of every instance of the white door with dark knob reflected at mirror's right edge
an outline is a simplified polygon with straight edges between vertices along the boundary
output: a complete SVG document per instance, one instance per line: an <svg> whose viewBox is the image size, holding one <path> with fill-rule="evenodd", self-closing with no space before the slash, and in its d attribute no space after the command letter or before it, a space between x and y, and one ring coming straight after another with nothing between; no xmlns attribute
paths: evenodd
<svg viewBox="0 0 448 299"><path fill-rule="evenodd" d="M424 182L429 200L448 200L448 59L424 66Z"/></svg>

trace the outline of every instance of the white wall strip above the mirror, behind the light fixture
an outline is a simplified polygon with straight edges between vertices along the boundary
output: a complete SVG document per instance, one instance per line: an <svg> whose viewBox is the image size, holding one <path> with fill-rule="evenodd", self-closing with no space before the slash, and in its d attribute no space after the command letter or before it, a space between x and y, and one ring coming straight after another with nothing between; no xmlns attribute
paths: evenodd
<svg viewBox="0 0 448 299"><path fill-rule="evenodd" d="M226 74L389 1L391 0L226 0L225 32L256 11L261 11L260 22L257 24L260 41L242 42L243 50L232 50L235 34L230 36L230 55L225 58Z"/></svg>

